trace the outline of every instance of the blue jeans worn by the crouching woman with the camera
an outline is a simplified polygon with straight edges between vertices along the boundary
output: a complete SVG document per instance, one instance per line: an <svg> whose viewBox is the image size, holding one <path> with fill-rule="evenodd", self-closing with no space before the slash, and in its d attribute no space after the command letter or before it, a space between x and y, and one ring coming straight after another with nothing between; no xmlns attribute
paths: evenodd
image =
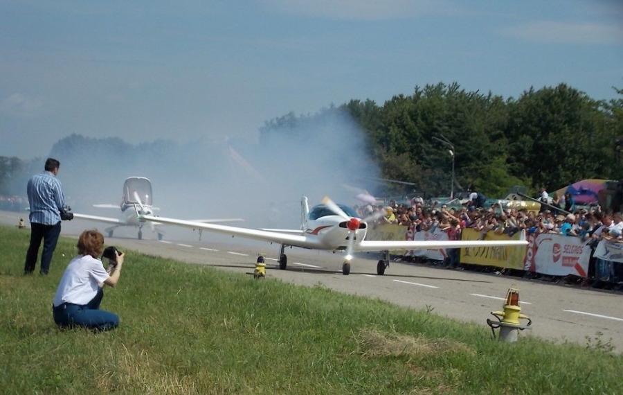
<svg viewBox="0 0 623 395"><path fill-rule="evenodd" d="M100 310L104 297L102 288L88 304L64 303L53 308L54 322L61 328L82 326L96 331L110 331L119 325L119 317L114 313Z"/></svg>

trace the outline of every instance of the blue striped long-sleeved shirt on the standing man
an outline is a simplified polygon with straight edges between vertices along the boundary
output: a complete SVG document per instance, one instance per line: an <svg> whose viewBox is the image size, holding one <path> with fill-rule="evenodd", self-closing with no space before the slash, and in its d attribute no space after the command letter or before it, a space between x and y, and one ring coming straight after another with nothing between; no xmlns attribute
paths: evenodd
<svg viewBox="0 0 623 395"><path fill-rule="evenodd" d="M60 181L53 173L44 171L28 180L30 222L56 225L60 221L60 209L66 209Z"/></svg>

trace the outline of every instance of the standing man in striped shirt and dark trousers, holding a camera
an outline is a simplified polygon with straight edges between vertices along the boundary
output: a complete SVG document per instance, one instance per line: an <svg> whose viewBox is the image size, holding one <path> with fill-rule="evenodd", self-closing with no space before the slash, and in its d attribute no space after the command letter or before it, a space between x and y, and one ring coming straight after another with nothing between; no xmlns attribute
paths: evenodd
<svg viewBox="0 0 623 395"><path fill-rule="evenodd" d="M73 213L65 205L62 186L56 178L60 162L53 158L46 160L45 171L28 180L28 202L30 203L30 245L26 253L24 274L35 271L41 240L44 248L41 254L39 273L48 274L52 254L60 235L60 222L71 220Z"/></svg>

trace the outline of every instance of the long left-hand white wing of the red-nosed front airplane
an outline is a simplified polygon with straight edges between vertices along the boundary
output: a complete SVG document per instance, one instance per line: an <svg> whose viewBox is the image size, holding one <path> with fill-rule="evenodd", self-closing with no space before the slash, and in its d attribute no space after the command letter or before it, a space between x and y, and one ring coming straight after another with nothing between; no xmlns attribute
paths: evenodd
<svg viewBox="0 0 623 395"><path fill-rule="evenodd" d="M271 243L281 243L287 245L293 245L295 247L303 248L318 248L319 245L315 239L309 239L305 235L300 234L287 234L276 231L265 231L259 229L249 229L240 227L231 227L228 225L215 225L206 224L205 222L197 221L185 221L176 220L174 218L164 218L155 216L139 216L141 220L147 220L151 222L157 222L160 224L176 225L179 227L186 227L190 229L202 229L207 231L214 231L220 234L226 234L229 236L239 236L244 238L253 238L255 240L269 241Z"/></svg>

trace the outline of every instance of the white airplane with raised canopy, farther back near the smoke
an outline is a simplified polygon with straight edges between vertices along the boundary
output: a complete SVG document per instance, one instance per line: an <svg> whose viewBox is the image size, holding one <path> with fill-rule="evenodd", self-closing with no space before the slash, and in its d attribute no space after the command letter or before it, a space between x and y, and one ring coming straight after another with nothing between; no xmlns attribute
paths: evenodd
<svg viewBox="0 0 623 395"><path fill-rule="evenodd" d="M106 222L113 226L104 229L108 237L113 236L113 232L118 227L138 227L138 240L143 238L143 226L145 221L140 220L139 216L151 216L154 210L158 208L152 206L152 183L145 177L129 177L123 184L123 196L121 204L93 204L93 207L104 209L120 209L121 218L109 218L100 216L89 216L86 214L74 213L73 218L82 220L93 220L98 222ZM196 220L199 223L205 222L226 222L226 221L242 221L240 218L222 219L222 220ZM151 222L152 231L158 234L158 240L162 240L164 231L156 227L160 225L157 222Z"/></svg>

